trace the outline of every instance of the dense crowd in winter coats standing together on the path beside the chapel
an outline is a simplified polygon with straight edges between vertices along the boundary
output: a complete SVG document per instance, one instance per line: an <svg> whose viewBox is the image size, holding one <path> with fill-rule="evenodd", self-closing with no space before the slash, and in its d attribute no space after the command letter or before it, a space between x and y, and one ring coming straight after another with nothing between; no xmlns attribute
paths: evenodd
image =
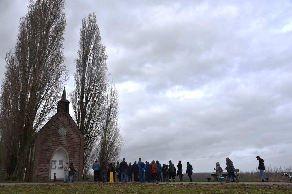
<svg viewBox="0 0 292 194"><path fill-rule="evenodd" d="M129 165L123 158L121 163L108 163L107 165L105 162L102 162L102 165L95 160L92 165L92 169L94 171L94 182L100 182L100 172L102 173L102 182L109 182L110 172L113 172L113 182L116 182L116 174L117 174L117 181L119 182L132 182L133 181L133 174L134 174L134 181L136 182L149 182L159 184L159 182L175 182L175 177L178 176L180 182L183 182L183 168L181 161L178 161L177 172L176 168L171 161L168 161L169 165L161 164L159 161L146 161L145 163L141 161L139 158L138 163L137 161L130 163ZM187 162L187 174L189 175L190 182L192 182L192 173L193 167ZM163 179L162 179L163 177ZM106 180L105 180L106 179Z"/></svg>

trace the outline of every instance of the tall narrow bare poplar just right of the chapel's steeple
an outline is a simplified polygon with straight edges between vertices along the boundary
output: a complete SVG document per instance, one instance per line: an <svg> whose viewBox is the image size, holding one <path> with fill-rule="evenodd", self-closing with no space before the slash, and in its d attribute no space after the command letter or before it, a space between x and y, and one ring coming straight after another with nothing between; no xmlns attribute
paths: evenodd
<svg viewBox="0 0 292 194"><path fill-rule="evenodd" d="M95 13L84 16L80 29L78 58L75 59L75 87L70 100L75 112L74 119L86 135L83 158L83 174L87 174L93 162L93 145L102 129L104 93L107 80L107 53L101 43L100 29Z"/></svg>

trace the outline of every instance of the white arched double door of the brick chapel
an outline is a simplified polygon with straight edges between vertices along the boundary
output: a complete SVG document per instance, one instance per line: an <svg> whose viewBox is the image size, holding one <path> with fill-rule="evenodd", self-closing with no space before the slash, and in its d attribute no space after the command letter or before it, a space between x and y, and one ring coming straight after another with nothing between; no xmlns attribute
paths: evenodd
<svg viewBox="0 0 292 194"><path fill-rule="evenodd" d="M61 179L64 177L64 164L65 164L65 154L60 149L54 154L51 166L51 179L54 179L54 173L56 173L56 178Z"/></svg>

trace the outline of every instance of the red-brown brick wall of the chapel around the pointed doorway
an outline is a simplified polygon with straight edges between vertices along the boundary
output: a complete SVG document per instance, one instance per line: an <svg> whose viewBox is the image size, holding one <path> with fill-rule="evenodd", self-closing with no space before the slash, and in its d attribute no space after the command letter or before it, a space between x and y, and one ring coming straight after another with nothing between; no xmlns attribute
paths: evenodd
<svg viewBox="0 0 292 194"><path fill-rule="evenodd" d="M59 129L64 127L66 135L60 135ZM34 161L28 164L29 175L27 181L49 181L51 180L51 158L52 154L59 147L63 147L68 156L69 164L73 162L74 168L79 173L79 180L82 179L84 137L71 116L66 112L58 112L50 121L39 131L36 136L36 147ZM74 181L77 181L74 176Z"/></svg>

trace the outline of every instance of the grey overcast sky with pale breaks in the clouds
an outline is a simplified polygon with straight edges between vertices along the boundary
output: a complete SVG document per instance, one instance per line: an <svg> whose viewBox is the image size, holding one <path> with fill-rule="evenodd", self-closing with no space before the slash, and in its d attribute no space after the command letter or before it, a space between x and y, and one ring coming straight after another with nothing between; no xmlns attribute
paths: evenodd
<svg viewBox="0 0 292 194"><path fill-rule="evenodd" d="M0 78L27 0L0 1ZM194 172L292 165L292 1L67 0L67 96L81 20L97 14L126 162Z"/></svg>

